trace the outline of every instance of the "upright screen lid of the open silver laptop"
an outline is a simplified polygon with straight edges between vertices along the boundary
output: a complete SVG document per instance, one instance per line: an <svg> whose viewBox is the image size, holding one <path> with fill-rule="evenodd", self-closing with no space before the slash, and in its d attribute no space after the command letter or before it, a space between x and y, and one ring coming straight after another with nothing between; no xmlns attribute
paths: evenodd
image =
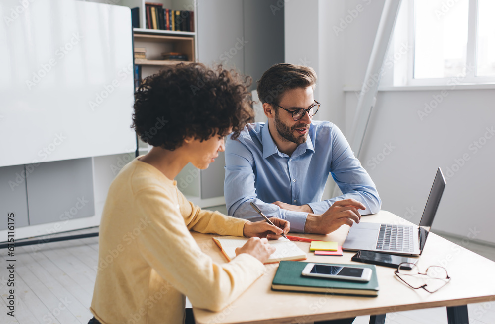
<svg viewBox="0 0 495 324"><path fill-rule="evenodd" d="M432 189L430 190L430 195L428 196L428 201L426 202L423 216L421 216L421 221L419 222L419 242L421 251L423 251L423 247L425 246L426 238L428 237L428 232L430 232L433 219L437 213L438 205L440 204L440 199L444 193L445 185L445 177L439 167L435 180L433 181Z"/></svg>

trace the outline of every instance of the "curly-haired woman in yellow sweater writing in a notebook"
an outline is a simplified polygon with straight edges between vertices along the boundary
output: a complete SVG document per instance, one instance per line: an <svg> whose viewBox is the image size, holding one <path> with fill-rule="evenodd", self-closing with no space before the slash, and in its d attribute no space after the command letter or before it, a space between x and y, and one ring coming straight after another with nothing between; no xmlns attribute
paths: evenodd
<svg viewBox="0 0 495 324"><path fill-rule="evenodd" d="M183 323L185 296L196 307L219 311L264 271L274 252L265 237L287 233L289 223L203 211L173 180L189 162L206 169L224 151L224 136L239 135L252 118L246 86L237 73L192 63L162 70L137 90L133 127L153 148L110 186L90 323ZM236 258L219 265L201 252L190 230L251 238Z"/></svg>

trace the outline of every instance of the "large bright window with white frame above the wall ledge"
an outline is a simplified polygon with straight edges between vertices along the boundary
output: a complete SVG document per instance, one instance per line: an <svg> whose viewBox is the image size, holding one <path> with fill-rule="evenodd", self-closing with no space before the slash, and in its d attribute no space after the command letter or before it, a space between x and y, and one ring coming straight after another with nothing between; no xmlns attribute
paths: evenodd
<svg viewBox="0 0 495 324"><path fill-rule="evenodd" d="M494 14L494 0L403 0L388 55L411 50L394 62L394 85L494 83Z"/></svg>

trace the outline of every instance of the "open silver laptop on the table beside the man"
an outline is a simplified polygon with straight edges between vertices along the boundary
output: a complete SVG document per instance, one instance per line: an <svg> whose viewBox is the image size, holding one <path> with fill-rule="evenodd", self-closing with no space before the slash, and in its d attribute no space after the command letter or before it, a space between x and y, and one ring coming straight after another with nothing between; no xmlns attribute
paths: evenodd
<svg viewBox="0 0 495 324"><path fill-rule="evenodd" d="M347 251L376 251L390 254L418 256L423 252L426 238L437 213L446 181L438 168L419 227L398 224L360 222L349 229L342 245Z"/></svg>

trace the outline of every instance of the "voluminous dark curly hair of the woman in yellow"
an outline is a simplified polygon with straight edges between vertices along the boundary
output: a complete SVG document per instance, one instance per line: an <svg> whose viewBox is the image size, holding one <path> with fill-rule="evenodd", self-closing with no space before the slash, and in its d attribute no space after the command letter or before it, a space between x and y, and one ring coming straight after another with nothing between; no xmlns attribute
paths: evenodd
<svg viewBox="0 0 495 324"><path fill-rule="evenodd" d="M231 127L235 139L254 116L251 81L221 65L167 66L136 91L131 127L144 142L171 151L187 136L208 140L227 135Z"/></svg>

